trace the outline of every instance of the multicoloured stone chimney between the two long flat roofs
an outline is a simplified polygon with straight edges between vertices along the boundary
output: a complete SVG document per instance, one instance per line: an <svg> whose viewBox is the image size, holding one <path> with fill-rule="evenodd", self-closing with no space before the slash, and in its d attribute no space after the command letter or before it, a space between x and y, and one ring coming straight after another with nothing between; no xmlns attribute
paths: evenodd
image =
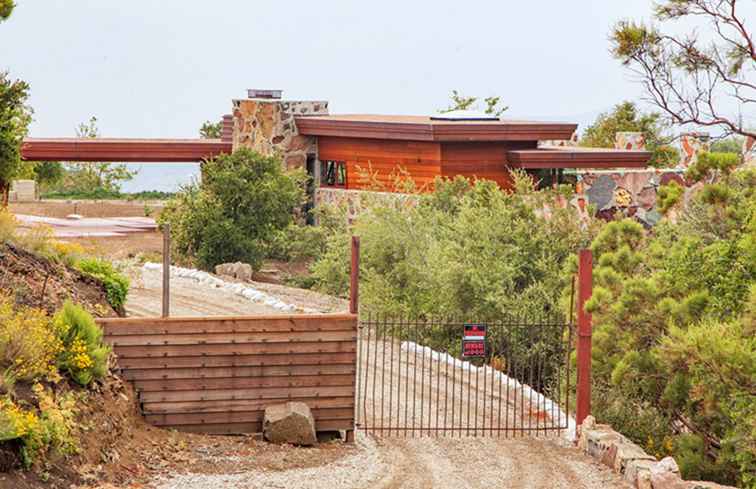
<svg viewBox="0 0 756 489"><path fill-rule="evenodd" d="M251 98L233 101L233 149L280 154L285 168L305 168L317 140L297 132L294 116L327 115L328 102Z"/></svg>

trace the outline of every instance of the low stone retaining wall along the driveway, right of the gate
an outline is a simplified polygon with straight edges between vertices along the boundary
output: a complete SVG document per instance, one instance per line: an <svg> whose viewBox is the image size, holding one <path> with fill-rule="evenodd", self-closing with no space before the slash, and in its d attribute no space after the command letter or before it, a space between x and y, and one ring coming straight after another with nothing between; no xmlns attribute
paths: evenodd
<svg viewBox="0 0 756 489"><path fill-rule="evenodd" d="M611 426L588 416L580 426L578 448L622 475L638 489L735 489L714 482L685 481L672 457L657 461Z"/></svg>

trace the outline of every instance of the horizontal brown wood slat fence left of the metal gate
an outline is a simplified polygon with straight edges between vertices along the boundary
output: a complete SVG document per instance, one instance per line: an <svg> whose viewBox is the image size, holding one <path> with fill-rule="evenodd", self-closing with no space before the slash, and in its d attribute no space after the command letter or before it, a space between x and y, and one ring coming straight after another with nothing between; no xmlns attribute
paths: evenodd
<svg viewBox="0 0 756 489"><path fill-rule="evenodd" d="M98 319L153 425L262 431L265 407L301 401L319 431L354 429L357 316Z"/></svg>

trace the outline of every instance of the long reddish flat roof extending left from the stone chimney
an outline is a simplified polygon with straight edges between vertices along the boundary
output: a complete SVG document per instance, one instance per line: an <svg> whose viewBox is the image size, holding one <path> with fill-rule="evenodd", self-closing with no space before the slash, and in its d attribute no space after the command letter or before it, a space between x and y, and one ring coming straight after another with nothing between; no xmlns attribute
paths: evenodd
<svg viewBox="0 0 756 489"><path fill-rule="evenodd" d="M199 162L231 153L220 139L25 138L27 161Z"/></svg>

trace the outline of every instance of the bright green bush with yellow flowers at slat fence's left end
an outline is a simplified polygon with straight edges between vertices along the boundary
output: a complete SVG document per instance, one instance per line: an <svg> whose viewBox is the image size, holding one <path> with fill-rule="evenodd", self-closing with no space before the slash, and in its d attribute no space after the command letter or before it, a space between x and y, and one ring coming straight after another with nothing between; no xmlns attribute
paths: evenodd
<svg viewBox="0 0 756 489"><path fill-rule="evenodd" d="M87 386L108 372L110 347L102 341L102 328L83 308L66 302L53 319L63 344L58 368L78 384Z"/></svg>

